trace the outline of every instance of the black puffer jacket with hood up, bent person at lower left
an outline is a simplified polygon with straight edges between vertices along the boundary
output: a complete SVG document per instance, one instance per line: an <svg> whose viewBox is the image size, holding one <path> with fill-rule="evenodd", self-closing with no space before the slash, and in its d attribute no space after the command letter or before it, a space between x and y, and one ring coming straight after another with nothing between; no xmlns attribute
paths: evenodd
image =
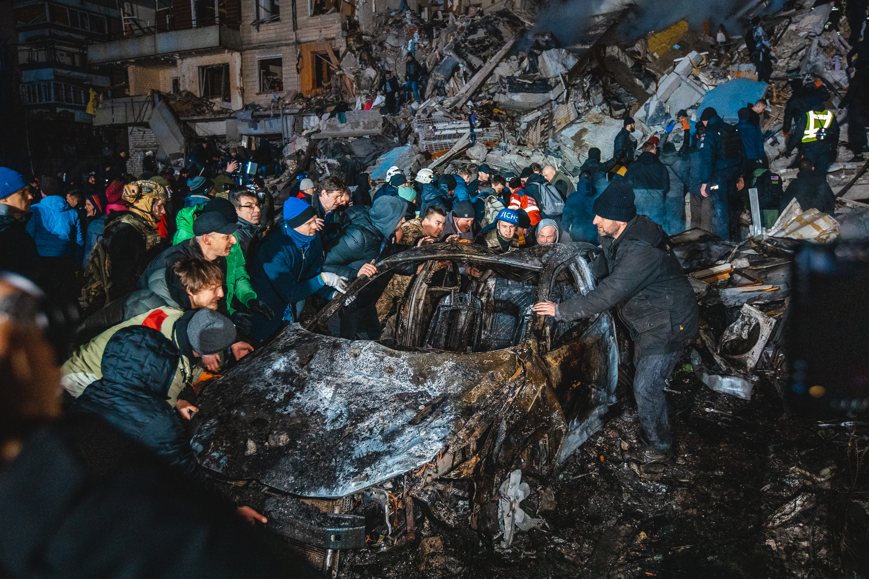
<svg viewBox="0 0 869 579"><path fill-rule="evenodd" d="M181 354L161 332L147 326L124 328L103 352L103 378L70 407L92 414L152 451L157 459L208 488L196 466L189 435L166 404Z"/></svg>

